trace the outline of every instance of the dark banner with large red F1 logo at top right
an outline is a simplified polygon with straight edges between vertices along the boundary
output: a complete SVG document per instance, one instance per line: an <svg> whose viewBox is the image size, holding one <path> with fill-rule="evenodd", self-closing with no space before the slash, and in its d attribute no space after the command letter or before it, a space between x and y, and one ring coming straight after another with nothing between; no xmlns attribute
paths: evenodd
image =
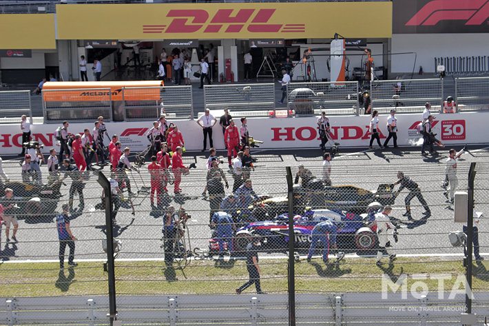
<svg viewBox="0 0 489 326"><path fill-rule="evenodd" d="M393 34L487 32L489 0L393 0Z"/></svg>

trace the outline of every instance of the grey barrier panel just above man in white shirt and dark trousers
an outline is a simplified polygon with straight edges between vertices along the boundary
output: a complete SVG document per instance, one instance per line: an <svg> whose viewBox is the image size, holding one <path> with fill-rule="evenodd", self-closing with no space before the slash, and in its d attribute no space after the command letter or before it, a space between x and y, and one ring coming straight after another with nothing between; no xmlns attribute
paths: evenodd
<svg viewBox="0 0 489 326"><path fill-rule="evenodd" d="M275 84L204 85L205 108L275 112Z"/></svg>

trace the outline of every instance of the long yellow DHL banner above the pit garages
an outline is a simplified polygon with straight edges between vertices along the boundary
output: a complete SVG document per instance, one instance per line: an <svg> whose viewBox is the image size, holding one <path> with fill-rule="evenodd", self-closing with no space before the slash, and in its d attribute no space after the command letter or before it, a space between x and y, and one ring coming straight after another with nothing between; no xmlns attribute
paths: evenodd
<svg viewBox="0 0 489 326"><path fill-rule="evenodd" d="M392 3L384 1L57 5L56 17L58 39L392 36Z"/></svg>

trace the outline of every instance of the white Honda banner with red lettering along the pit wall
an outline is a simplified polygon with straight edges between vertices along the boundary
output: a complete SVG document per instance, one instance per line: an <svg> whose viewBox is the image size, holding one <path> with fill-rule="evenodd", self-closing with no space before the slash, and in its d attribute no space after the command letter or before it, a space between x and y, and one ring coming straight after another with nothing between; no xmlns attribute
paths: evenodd
<svg viewBox="0 0 489 326"><path fill-rule="evenodd" d="M211 112L218 117L220 112ZM232 112L230 112L232 114ZM470 112L457 114L436 114L437 119L433 130L437 138L446 145L466 143L487 143L487 137L481 130L486 130L489 112ZM388 135L388 114L379 116L380 139L382 142ZM417 124L422 120L422 114L397 114L397 143L398 145L421 145L422 136L417 134ZM172 122L172 121L169 121ZM187 150L202 149L202 128L196 121L174 121L183 133ZM331 136L341 147L368 147L370 132L368 125L370 116L330 116ZM93 123L72 123L68 132L83 133L85 128L92 129ZM132 152L144 150L149 141L146 134L152 128L152 121L135 121L124 123L107 123L110 135L118 134L123 147L130 147ZM45 145L47 153L50 147L56 147L54 130L58 125L31 125L32 138ZM255 139L264 141L261 148L319 148L319 132L317 118L291 119L248 119L249 133ZM219 125L214 127L214 145L218 150L224 149L224 140ZM19 124L2 125L0 147L3 154L17 154L21 147L22 132ZM109 139L105 137L105 145ZM390 144L392 145L392 143Z"/></svg>

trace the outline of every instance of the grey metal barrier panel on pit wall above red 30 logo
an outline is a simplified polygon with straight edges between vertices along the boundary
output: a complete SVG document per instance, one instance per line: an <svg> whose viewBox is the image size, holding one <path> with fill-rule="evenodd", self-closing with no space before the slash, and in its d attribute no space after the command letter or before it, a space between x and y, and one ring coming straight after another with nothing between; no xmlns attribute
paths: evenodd
<svg viewBox="0 0 489 326"><path fill-rule="evenodd" d="M489 109L489 77L455 79L458 111Z"/></svg>

